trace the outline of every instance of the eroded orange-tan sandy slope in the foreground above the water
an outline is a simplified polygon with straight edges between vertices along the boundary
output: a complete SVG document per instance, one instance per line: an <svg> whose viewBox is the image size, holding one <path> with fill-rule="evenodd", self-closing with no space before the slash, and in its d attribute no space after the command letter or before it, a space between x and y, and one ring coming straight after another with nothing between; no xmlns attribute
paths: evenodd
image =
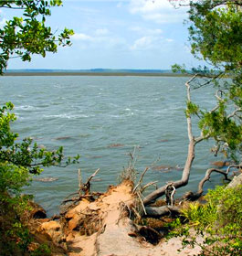
<svg viewBox="0 0 242 256"><path fill-rule="evenodd" d="M184 256L198 255L199 248L182 248L181 238L147 242L129 218L135 203L132 182L124 181L110 187L107 193L93 202L82 199L59 220L46 221L37 229L69 256ZM201 240L198 238L198 240Z"/></svg>

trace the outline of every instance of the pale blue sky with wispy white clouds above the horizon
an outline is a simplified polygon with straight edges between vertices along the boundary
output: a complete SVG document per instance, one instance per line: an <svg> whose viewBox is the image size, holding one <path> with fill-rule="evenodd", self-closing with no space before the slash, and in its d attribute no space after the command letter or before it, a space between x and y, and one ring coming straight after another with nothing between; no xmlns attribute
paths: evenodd
<svg viewBox="0 0 242 256"><path fill-rule="evenodd" d="M31 62L11 59L8 69L171 69L193 67L186 7L168 0L63 0L53 7L47 25L60 32L72 28L72 46L58 48ZM0 26L17 11L1 9Z"/></svg>

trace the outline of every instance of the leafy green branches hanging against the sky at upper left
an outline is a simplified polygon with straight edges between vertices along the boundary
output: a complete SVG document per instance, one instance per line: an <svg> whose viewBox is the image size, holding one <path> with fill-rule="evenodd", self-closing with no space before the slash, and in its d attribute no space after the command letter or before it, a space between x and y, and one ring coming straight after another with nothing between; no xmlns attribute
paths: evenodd
<svg viewBox="0 0 242 256"><path fill-rule="evenodd" d="M0 8L19 10L22 16L14 16L0 29L0 74L7 67L10 58L19 57L30 61L32 54L45 57L47 52L57 52L58 45L69 46L72 29L64 30L55 36L51 27L46 26L46 16L50 16L50 7L62 5L60 0L5 0L0 1Z"/></svg>

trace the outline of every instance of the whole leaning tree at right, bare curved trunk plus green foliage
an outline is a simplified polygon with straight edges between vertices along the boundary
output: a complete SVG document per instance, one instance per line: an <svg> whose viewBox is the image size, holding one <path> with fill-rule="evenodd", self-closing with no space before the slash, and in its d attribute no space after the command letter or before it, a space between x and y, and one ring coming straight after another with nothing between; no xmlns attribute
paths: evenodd
<svg viewBox="0 0 242 256"><path fill-rule="evenodd" d="M157 0L159 1L159 0ZM211 168L205 172L205 177L198 185L195 193L186 194L186 199L197 199L203 194L205 181L212 172L228 179L232 167L241 167L242 154L242 1L203 0L175 1L170 0L174 7L188 6L189 41L191 52L206 66L199 66L186 71L184 65L175 64L175 72L188 73L191 79L185 83L187 92L185 117L189 138L187 158L183 175L180 180L159 187L143 198L143 205L150 215L162 215L173 206L162 208L149 207L157 198L167 197L167 202L173 202L175 189L184 187L189 181L191 167L195 158L195 146L200 142L213 139L215 155L223 153L233 161L226 171ZM201 109L191 99L191 91L203 90L205 86L215 88L216 104L213 109ZM192 131L192 118L198 117L200 135L195 137ZM169 198L170 197L170 198Z"/></svg>

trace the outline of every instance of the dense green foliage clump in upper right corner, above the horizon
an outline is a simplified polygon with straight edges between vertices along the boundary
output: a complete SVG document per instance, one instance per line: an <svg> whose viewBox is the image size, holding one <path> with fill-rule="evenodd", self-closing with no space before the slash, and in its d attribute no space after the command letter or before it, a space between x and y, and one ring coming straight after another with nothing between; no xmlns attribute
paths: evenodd
<svg viewBox="0 0 242 256"><path fill-rule="evenodd" d="M232 71L241 69L242 59L242 12L235 2L191 1L189 10L192 53L214 66Z"/></svg>

